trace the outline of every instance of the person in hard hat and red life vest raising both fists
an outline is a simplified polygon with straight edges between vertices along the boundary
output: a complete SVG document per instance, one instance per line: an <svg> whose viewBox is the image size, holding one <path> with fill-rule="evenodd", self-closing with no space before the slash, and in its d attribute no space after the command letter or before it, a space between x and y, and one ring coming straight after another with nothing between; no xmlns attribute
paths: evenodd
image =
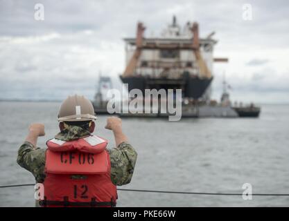
<svg viewBox="0 0 289 221"><path fill-rule="evenodd" d="M116 185L130 183L137 152L123 134L121 119L108 117L105 128L114 133L116 148L92 135L96 119L89 99L74 95L62 102L58 113L60 132L37 147L43 124L31 124L17 163L44 186L41 206L115 206Z"/></svg>

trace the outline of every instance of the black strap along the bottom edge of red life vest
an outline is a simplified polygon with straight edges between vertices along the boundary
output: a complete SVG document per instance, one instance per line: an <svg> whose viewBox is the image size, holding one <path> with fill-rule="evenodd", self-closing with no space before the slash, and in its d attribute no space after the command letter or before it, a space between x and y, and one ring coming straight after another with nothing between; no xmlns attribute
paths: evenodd
<svg viewBox="0 0 289 221"><path fill-rule="evenodd" d="M55 201L55 200L40 200L40 206L91 206L91 207L99 207L99 206L111 206L115 207L116 202L112 199L110 202L97 202L96 198L91 198L90 202L70 202L67 196L64 196L63 201Z"/></svg>

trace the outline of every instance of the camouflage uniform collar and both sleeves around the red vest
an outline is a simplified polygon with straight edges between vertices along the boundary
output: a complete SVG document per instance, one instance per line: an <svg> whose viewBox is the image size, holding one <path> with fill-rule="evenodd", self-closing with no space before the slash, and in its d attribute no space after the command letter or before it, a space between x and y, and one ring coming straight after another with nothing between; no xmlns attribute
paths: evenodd
<svg viewBox="0 0 289 221"><path fill-rule="evenodd" d="M71 141L90 135L89 131L79 126L69 126L57 135L56 139ZM121 186L130 183L134 166L137 161L137 152L128 142L122 142L117 148L108 149L111 162L112 183ZM45 149L35 148L30 142L24 142L19 148L17 163L30 171L36 182L44 182Z"/></svg>

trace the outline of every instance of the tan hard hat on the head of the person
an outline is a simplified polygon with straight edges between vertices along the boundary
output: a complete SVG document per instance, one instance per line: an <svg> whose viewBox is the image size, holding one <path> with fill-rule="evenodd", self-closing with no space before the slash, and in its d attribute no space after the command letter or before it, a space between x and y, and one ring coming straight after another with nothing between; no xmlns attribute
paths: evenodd
<svg viewBox="0 0 289 221"><path fill-rule="evenodd" d="M94 106L84 96L69 96L62 102L59 112L59 122L84 122L96 119Z"/></svg>

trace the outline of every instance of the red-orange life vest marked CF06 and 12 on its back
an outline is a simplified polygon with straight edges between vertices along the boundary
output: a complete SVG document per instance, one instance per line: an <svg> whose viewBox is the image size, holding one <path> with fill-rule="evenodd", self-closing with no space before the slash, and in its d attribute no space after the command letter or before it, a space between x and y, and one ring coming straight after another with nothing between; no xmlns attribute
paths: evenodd
<svg viewBox="0 0 289 221"><path fill-rule="evenodd" d="M42 206L115 206L107 141L96 135L46 142Z"/></svg>

